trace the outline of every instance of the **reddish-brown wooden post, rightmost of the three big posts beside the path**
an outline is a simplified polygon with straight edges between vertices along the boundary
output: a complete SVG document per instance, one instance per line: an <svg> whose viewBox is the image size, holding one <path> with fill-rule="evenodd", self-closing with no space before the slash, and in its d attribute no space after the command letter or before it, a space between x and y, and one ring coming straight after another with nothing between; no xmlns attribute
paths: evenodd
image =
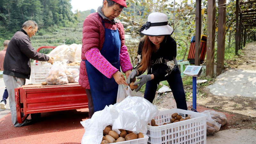
<svg viewBox="0 0 256 144"><path fill-rule="evenodd" d="M219 0L218 3L218 49L216 75L221 74L224 68L225 57L225 30L226 30L226 0Z"/></svg>

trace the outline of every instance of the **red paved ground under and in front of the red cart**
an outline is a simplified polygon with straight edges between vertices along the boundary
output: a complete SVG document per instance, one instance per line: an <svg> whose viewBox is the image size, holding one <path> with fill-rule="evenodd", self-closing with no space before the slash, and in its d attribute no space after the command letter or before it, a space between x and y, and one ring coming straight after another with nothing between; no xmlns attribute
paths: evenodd
<svg viewBox="0 0 256 144"><path fill-rule="evenodd" d="M13 127L11 113L0 119L0 144L78 144L84 135L80 121L88 118L88 109L47 112L35 124Z"/></svg>

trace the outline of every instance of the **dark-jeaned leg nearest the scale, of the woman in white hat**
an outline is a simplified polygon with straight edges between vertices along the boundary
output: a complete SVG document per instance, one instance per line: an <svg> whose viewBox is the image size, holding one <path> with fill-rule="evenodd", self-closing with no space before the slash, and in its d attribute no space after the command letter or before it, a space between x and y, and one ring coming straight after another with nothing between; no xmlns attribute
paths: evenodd
<svg viewBox="0 0 256 144"><path fill-rule="evenodd" d="M170 77L167 78L167 82L172 90L172 94L176 101L177 108L188 110L179 68L176 68L172 71Z"/></svg>

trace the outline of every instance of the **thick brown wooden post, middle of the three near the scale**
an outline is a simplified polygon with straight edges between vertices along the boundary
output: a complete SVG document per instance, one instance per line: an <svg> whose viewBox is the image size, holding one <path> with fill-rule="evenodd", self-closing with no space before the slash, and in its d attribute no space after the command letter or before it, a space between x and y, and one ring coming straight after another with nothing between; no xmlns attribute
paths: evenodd
<svg viewBox="0 0 256 144"><path fill-rule="evenodd" d="M212 77L214 74L214 46L215 46L215 16L216 1L207 0L207 49L205 75Z"/></svg>

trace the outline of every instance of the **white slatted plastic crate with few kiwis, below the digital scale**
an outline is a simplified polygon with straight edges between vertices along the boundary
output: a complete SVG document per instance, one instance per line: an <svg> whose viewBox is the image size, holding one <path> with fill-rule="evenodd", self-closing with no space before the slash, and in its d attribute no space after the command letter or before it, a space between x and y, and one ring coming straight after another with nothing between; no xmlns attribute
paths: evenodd
<svg viewBox="0 0 256 144"><path fill-rule="evenodd" d="M173 113L193 118L170 123ZM160 111L154 119L159 126L148 125L148 144L206 144L205 114L175 108Z"/></svg>

